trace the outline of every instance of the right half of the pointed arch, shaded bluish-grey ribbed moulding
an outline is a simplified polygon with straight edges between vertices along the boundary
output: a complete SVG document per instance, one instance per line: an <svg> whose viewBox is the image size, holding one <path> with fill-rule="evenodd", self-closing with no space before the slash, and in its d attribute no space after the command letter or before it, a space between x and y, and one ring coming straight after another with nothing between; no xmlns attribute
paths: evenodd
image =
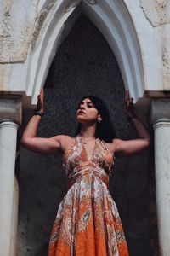
<svg viewBox="0 0 170 256"><path fill-rule="evenodd" d="M139 39L126 5L120 0L84 1L82 12L110 44L121 69L125 88L136 102L144 94L144 68Z"/></svg>

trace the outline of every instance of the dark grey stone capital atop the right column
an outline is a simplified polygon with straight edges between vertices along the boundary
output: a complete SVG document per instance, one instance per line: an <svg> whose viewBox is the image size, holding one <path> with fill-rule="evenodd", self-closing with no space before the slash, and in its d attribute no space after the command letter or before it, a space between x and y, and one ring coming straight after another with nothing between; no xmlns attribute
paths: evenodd
<svg viewBox="0 0 170 256"><path fill-rule="evenodd" d="M170 122L170 99L153 99L150 112L152 123Z"/></svg>

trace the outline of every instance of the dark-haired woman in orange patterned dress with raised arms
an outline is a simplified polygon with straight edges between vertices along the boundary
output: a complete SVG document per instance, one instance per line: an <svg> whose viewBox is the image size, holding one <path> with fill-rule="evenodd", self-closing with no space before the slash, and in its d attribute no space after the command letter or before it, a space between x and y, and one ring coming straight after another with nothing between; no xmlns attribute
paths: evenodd
<svg viewBox="0 0 170 256"><path fill-rule="evenodd" d="M95 96L86 96L79 104L76 137L37 137L43 98L42 90L21 143L38 153L63 154L68 191L59 205L48 256L127 256L122 223L108 186L114 155L136 154L150 144L149 133L133 113L133 99L127 92L127 116L139 138L125 141L114 137L108 110Z"/></svg>

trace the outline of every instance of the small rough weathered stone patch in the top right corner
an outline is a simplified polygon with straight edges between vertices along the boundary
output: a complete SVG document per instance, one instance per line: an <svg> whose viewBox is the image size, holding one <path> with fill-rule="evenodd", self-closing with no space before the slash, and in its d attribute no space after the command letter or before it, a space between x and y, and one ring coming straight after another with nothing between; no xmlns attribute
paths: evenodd
<svg viewBox="0 0 170 256"><path fill-rule="evenodd" d="M140 0L140 6L152 26L170 23L169 0Z"/></svg>

